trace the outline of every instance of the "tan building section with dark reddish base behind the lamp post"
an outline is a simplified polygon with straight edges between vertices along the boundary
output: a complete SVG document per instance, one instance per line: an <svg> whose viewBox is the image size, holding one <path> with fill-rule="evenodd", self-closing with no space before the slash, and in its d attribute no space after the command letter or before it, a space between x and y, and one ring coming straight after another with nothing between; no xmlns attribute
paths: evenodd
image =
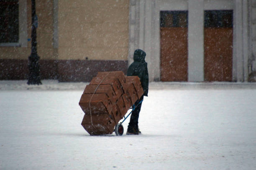
<svg viewBox="0 0 256 170"><path fill-rule="evenodd" d="M18 17L11 20L18 21L19 35L18 40L4 41L9 30L1 23L0 80L27 79L31 0L0 4L7 13L1 12L3 18L11 18L18 8ZM36 0L36 15L41 79L88 82L99 71L126 72L128 0Z"/></svg>

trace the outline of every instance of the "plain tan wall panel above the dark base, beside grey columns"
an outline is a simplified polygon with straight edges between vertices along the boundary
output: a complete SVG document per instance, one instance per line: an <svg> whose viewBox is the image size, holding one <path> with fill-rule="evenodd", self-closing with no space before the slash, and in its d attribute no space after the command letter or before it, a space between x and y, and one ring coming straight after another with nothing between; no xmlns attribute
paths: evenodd
<svg viewBox="0 0 256 170"><path fill-rule="evenodd" d="M129 0L59 0L59 60L127 60Z"/></svg>

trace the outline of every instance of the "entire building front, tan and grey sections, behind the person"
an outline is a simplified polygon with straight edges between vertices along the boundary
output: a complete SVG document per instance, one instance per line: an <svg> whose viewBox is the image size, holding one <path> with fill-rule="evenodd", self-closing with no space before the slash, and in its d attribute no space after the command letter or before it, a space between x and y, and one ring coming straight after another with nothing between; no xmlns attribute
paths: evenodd
<svg viewBox="0 0 256 170"><path fill-rule="evenodd" d="M0 79L26 79L31 0L8 2L0 1ZM126 73L140 48L150 81L255 81L256 0L36 0L36 14L41 79Z"/></svg>

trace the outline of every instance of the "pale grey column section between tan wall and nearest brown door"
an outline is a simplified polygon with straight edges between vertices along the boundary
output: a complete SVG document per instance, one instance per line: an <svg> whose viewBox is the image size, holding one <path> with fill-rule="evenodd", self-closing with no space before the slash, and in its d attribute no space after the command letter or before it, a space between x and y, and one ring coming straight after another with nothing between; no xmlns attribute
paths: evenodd
<svg viewBox="0 0 256 170"><path fill-rule="evenodd" d="M133 62L134 50L146 52L149 81L160 80L159 13L156 1L130 0L129 16L129 56L128 64Z"/></svg>

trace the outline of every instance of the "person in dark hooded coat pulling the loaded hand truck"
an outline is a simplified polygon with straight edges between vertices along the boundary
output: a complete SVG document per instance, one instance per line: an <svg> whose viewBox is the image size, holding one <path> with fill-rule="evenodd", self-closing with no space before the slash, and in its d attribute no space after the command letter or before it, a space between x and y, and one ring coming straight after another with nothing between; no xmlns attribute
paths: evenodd
<svg viewBox="0 0 256 170"><path fill-rule="evenodd" d="M127 135L138 135L141 131L138 128L138 117L141 111L141 104L144 96L148 96L148 66L145 61L146 52L137 49L133 54L133 63L128 67L127 75L137 75L141 80L144 94L133 105L133 111L131 113L131 119L127 129ZM136 107L135 107L136 106Z"/></svg>

